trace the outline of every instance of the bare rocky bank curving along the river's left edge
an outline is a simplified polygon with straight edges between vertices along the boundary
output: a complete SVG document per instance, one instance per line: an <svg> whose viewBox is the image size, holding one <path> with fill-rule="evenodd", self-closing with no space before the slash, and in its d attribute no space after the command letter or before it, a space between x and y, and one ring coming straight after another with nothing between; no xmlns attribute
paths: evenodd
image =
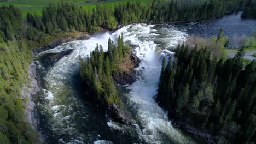
<svg viewBox="0 0 256 144"><path fill-rule="evenodd" d="M22 106L24 107L24 119L25 122L31 125L31 127L37 131L37 140L36 142L43 143L44 136L38 131L38 123L39 119L36 118L36 104L34 103L34 97L38 95L39 92L42 91L42 87L39 86L39 80L37 77L37 64L35 63L34 57L42 52L49 49L53 49L54 47L67 43L73 40L85 40L91 37L90 34L86 32L71 32L71 33L59 33L55 34L53 37L48 39L44 39L45 44L33 43L31 42L29 45L37 45L34 49L32 49L32 62L27 69L28 79L26 80L26 84L21 88L21 96ZM53 61L57 61L68 53L63 53L63 55L58 55L57 57L51 59Z"/></svg>

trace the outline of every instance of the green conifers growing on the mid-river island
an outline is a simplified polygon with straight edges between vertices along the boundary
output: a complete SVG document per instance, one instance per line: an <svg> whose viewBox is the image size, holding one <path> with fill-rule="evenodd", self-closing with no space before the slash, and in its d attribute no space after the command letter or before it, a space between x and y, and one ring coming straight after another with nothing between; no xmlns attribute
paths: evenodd
<svg viewBox="0 0 256 144"><path fill-rule="evenodd" d="M117 45L109 39L107 52L103 52L102 46L97 44L95 51L90 53L90 58L85 61L81 59L80 77L94 95L94 99L100 100L103 105L121 103L111 75L117 72L121 59L126 55L123 53L124 49L122 37L119 37ZM109 61L109 57L113 60Z"/></svg>

